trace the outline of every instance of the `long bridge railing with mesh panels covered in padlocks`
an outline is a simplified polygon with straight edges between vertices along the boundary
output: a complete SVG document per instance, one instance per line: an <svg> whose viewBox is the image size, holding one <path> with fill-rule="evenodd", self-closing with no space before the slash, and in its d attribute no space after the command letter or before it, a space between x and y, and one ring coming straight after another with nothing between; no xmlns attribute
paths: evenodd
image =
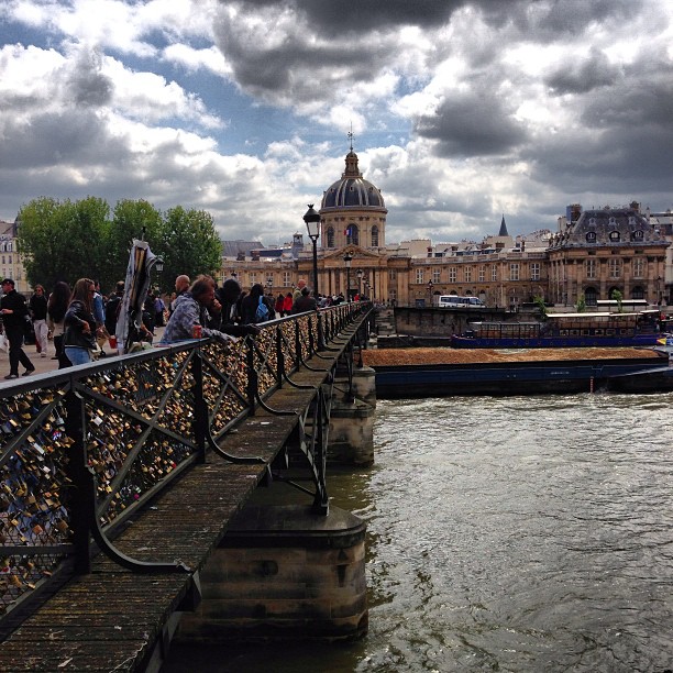
<svg viewBox="0 0 673 673"><path fill-rule="evenodd" d="M152 570L108 549L115 529L369 308L344 304L269 321L227 347L184 342L0 388L0 615L55 574L87 572L91 536L118 562Z"/></svg>

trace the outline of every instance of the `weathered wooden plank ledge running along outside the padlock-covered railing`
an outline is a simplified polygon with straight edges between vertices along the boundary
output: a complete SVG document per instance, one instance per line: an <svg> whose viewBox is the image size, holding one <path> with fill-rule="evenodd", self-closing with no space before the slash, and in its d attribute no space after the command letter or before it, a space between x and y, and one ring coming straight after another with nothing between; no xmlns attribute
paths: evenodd
<svg viewBox="0 0 673 673"><path fill-rule="evenodd" d="M313 357L293 378L320 386L338 351ZM302 412L316 389L285 385L267 401L274 409ZM271 422L269 422L271 421ZM221 442L230 454L273 461L298 422L298 416L273 416L258 409ZM186 563L191 573L139 574L99 554L92 572L69 581L29 617L1 646L0 670L145 671L156 670L167 651L172 615L198 594L198 571L227 532L229 521L266 474L266 464L232 464L210 453L128 525L115 547L142 561Z"/></svg>

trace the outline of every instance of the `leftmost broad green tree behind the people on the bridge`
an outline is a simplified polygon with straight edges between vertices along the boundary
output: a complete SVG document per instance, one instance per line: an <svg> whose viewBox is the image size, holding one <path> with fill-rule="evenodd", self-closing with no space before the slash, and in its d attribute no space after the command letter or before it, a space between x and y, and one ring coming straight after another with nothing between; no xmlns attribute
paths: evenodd
<svg viewBox="0 0 673 673"><path fill-rule="evenodd" d="M96 278L104 266L108 203L95 197L73 202L42 197L19 211L19 251L31 285L47 288Z"/></svg>

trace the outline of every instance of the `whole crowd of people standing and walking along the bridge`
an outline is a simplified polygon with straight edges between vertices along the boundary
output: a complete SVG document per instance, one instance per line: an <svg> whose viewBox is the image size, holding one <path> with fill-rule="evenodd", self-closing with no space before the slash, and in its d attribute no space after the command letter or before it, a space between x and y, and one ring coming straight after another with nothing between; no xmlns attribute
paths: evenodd
<svg viewBox="0 0 673 673"><path fill-rule="evenodd" d="M59 367L86 364L104 355L108 342L113 349L124 345L115 343L123 282L109 296L103 296L100 284L90 278L80 278L71 288L58 282L48 296L42 285L35 285L27 300L16 291L13 279L4 278L1 287L0 330L10 363L5 379L18 378L20 366L24 368L22 376L35 371L23 347L33 340L40 357L49 356L48 344L53 343L52 358L58 360ZM159 293L147 293L140 329L134 324L129 329L136 332L132 339L152 343L155 329L165 327L159 345L197 336L228 342L257 333L261 322L343 301L343 295L313 296L305 279L274 298L265 295L258 283L245 291L235 278L218 287L211 276L201 275L192 283L189 276L180 275L167 305Z"/></svg>

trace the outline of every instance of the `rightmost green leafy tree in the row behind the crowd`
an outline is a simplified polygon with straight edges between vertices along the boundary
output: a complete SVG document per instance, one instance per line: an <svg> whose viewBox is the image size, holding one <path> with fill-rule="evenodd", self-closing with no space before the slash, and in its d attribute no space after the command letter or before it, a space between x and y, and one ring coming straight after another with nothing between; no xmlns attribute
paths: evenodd
<svg viewBox="0 0 673 673"><path fill-rule="evenodd" d="M162 245L152 252L164 258L164 273L156 284L162 290L173 289L175 278L187 274L213 275L222 265L222 243L212 216L205 210L185 210L181 206L164 213Z"/></svg>

